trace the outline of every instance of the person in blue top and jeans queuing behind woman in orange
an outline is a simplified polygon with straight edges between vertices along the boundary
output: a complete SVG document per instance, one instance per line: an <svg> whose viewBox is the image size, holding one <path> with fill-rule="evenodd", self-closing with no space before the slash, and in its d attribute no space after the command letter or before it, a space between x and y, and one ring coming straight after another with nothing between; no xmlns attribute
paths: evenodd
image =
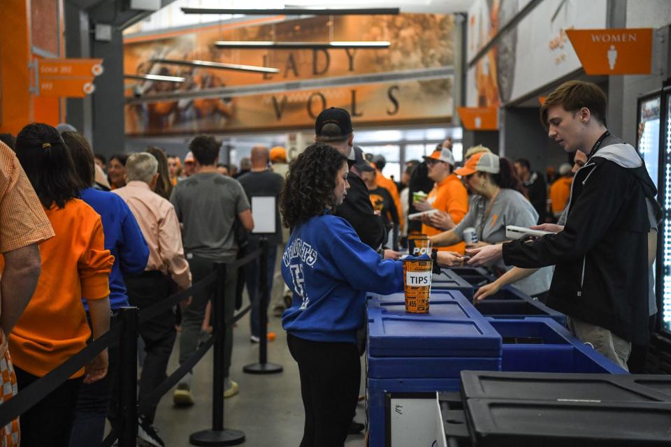
<svg viewBox="0 0 671 447"><path fill-rule="evenodd" d="M128 306L128 296L122 272L139 274L145 270L149 247L130 208L120 196L94 189L95 168L93 151L86 138L77 132L62 133L70 149L77 176L82 184L81 199L100 214L105 233L105 248L114 256L110 273L110 308L112 318L120 307ZM86 306L86 303L84 303ZM103 440L105 418L110 404L110 393L116 388L115 365L118 350L110 346L109 373L100 381L82 385L79 393L70 446L97 446ZM110 416L113 413L110 411Z"/></svg>

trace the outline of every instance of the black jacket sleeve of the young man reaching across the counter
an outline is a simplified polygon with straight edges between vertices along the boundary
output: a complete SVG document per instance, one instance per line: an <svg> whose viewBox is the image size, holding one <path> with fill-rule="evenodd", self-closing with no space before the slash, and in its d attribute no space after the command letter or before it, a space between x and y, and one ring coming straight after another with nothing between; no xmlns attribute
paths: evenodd
<svg viewBox="0 0 671 447"><path fill-rule="evenodd" d="M537 268L577 261L603 239L637 185L625 168L611 161L599 161L582 171L574 179L584 182L584 186L579 185L582 193L571 205L563 231L533 242L516 240L503 244L506 265Z"/></svg>

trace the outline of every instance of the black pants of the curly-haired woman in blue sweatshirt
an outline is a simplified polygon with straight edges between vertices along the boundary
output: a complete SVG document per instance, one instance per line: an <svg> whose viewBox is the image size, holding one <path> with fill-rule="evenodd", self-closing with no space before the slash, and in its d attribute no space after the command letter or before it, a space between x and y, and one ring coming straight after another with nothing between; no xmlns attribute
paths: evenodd
<svg viewBox="0 0 671 447"><path fill-rule="evenodd" d="M359 397L356 344L310 342L290 333L287 344L301 374L305 407L301 447L342 447Z"/></svg>

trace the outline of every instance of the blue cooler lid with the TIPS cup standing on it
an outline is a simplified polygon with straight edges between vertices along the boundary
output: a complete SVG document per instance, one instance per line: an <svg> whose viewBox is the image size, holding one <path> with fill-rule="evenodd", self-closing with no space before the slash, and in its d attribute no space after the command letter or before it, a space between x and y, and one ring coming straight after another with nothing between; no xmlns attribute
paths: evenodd
<svg viewBox="0 0 671 447"><path fill-rule="evenodd" d="M500 357L501 337L465 298L430 301L428 314L399 302L368 307L368 349L375 357ZM404 305L404 304L403 304Z"/></svg>

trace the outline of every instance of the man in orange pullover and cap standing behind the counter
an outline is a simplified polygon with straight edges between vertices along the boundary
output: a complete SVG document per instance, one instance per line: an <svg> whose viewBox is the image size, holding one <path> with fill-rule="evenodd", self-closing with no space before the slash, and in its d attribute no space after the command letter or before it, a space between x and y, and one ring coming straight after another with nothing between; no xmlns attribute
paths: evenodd
<svg viewBox="0 0 671 447"><path fill-rule="evenodd" d="M419 211L438 210L422 217L421 233L433 236L444 230L451 230L466 216L468 192L453 172L454 156L447 147L433 151L433 154L425 156L424 160L428 168L428 178L435 184L426 200L415 202L414 207ZM461 254L464 249L466 244L463 241L439 248L442 251L457 251Z"/></svg>

